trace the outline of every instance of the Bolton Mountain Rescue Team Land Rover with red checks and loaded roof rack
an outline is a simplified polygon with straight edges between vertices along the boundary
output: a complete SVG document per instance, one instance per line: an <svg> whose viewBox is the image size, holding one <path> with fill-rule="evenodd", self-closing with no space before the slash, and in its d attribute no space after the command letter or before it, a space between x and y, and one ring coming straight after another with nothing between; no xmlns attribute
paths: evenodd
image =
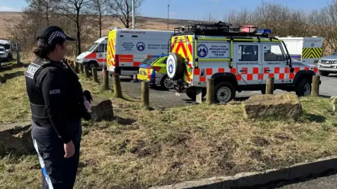
<svg viewBox="0 0 337 189"><path fill-rule="evenodd" d="M275 89L309 95L317 67L291 61L285 44L270 34L225 22L176 28L166 63L174 90L194 100L197 93L206 95L206 80L214 79L214 99L227 103L236 91L265 93L267 77L274 77Z"/></svg>

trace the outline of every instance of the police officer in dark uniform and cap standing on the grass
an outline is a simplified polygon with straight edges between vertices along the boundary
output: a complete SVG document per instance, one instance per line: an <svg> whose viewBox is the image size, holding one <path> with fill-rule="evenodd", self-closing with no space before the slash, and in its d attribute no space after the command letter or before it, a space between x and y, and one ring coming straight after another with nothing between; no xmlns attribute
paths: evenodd
<svg viewBox="0 0 337 189"><path fill-rule="evenodd" d="M26 72L32 140L39 155L42 188L72 188L79 164L81 118L91 119L74 70L64 63L67 40L60 27L37 35L36 59ZM91 97L89 97L91 98Z"/></svg>

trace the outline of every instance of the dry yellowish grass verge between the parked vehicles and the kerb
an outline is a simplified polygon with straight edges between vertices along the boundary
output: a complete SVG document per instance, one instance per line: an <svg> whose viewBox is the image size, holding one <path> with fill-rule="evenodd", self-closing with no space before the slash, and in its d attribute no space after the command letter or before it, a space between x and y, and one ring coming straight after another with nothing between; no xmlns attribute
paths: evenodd
<svg viewBox="0 0 337 189"><path fill-rule="evenodd" d="M147 188L336 155L337 121L328 98L301 98L298 122L253 122L235 103L147 111L135 100L112 98L89 79L81 77L81 84L112 99L117 119L84 122L75 188ZM24 77L0 87L1 122L29 119L28 107L22 107L28 104ZM39 173L37 155L3 155L0 188L39 188Z"/></svg>

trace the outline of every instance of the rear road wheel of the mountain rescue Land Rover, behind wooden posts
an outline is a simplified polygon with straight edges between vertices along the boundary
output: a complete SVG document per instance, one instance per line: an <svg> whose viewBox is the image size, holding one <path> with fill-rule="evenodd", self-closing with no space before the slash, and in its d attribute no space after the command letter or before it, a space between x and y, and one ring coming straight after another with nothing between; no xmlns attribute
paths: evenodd
<svg viewBox="0 0 337 189"><path fill-rule="evenodd" d="M228 82L220 82L214 89L214 100L217 103L228 103L235 98L234 86Z"/></svg>

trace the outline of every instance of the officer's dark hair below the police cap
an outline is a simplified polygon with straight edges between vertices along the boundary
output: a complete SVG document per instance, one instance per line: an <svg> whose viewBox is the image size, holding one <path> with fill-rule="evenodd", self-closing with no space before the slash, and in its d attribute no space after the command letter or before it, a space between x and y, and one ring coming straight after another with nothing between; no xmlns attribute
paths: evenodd
<svg viewBox="0 0 337 189"><path fill-rule="evenodd" d="M39 39L37 41L37 47L34 48L34 54L40 58L47 58L48 54L55 50L56 45L61 45L65 39L62 37L55 37L51 44L48 44L48 39Z"/></svg>

